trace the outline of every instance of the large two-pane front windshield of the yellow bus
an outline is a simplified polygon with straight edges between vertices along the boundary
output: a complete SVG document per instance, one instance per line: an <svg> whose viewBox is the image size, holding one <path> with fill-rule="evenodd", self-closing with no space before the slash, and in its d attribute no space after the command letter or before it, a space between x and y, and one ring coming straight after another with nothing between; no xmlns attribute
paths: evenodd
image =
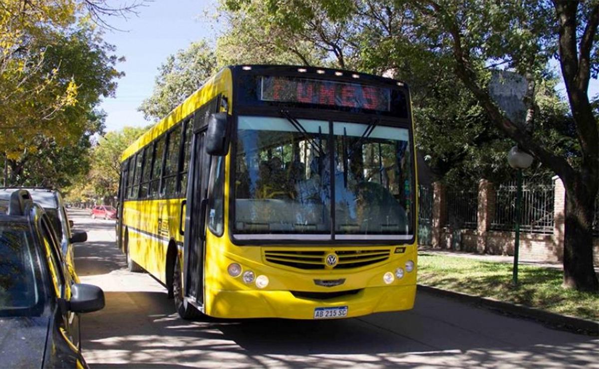
<svg viewBox="0 0 599 369"><path fill-rule="evenodd" d="M410 239L411 173L407 129L241 116L235 237Z"/></svg>

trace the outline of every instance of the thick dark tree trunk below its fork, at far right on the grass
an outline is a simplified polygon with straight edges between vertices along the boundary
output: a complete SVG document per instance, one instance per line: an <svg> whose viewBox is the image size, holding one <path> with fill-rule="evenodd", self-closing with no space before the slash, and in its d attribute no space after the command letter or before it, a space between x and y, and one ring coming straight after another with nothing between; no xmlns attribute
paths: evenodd
<svg viewBox="0 0 599 369"><path fill-rule="evenodd" d="M564 181L564 187L564 286L597 293L599 282L593 267L592 236L595 198L580 177Z"/></svg>

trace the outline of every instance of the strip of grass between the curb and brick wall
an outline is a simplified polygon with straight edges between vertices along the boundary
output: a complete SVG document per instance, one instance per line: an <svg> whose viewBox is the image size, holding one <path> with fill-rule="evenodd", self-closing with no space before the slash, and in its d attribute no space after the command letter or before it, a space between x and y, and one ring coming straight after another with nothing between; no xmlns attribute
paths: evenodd
<svg viewBox="0 0 599 369"><path fill-rule="evenodd" d="M513 286L512 264L423 252L418 283L599 321L599 295L562 288L558 269L520 265L519 285Z"/></svg>

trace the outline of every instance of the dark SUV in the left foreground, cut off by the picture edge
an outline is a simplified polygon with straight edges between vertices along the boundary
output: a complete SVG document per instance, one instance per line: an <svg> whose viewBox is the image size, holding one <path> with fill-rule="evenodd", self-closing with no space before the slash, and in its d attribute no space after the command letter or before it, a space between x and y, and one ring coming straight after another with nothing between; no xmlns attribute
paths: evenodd
<svg viewBox="0 0 599 369"><path fill-rule="evenodd" d="M4 202L3 202L4 203ZM74 283L52 221L25 190L0 209L2 367L87 367L78 313L104 307L104 292Z"/></svg>

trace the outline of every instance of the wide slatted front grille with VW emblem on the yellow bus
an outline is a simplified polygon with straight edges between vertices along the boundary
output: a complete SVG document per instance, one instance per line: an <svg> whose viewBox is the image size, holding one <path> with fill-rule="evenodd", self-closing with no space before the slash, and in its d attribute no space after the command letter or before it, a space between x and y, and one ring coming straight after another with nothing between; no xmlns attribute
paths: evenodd
<svg viewBox="0 0 599 369"><path fill-rule="evenodd" d="M337 263L330 266L326 258L335 254ZM298 269L352 269L381 263L389 258L389 249L361 249L337 251L265 250L264 258L269 263Z"/></svg>

